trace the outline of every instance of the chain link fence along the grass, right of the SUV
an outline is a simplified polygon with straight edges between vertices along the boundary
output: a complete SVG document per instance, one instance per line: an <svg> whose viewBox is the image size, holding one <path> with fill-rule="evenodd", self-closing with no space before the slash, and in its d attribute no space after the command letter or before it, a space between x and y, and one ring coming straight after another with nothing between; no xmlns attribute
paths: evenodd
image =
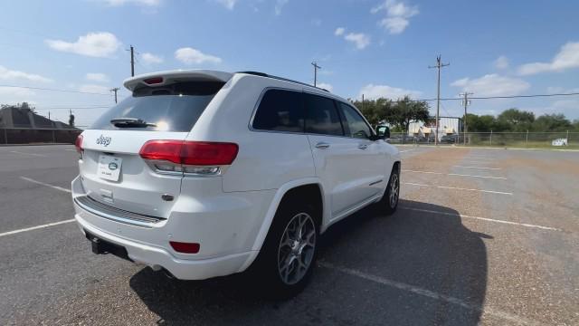
<svg viewBox="0 0 579 326"><path fill-rule="evenodd" d="M411 136L406 133L393 132L389 142L391 144L424 144L433 145L434 135ZM466 140L466 142L465 142ZM439 138L439 144L467 145L487 147L513 148L554 148L579 149L579 132L468 132L444 135Z"/></svg>

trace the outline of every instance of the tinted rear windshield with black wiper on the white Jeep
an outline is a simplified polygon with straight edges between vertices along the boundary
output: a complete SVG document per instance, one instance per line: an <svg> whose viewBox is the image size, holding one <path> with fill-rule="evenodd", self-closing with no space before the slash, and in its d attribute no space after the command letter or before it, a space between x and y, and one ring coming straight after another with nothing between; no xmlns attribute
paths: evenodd
<svg viewBox="0 0 579 326"><path fill-rule="evenodd" d="M223 82L177 82L141 87L132 96L105 112L90 129L190 131ZM139 120L140 124L111 123ZM142 123L141 123L142 122Z"/></svg>

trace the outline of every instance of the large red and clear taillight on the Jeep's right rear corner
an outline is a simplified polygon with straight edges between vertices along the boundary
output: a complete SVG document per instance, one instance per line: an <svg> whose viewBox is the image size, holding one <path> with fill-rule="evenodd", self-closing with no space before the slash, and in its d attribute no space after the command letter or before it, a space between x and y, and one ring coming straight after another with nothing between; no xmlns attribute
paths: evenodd
<svg viewBox="0 0 579 326"><path fill-rule="evenodd" d="M212 141L149 140L139 151L160 172L219 174L233 163L237 144Z"/></svg>

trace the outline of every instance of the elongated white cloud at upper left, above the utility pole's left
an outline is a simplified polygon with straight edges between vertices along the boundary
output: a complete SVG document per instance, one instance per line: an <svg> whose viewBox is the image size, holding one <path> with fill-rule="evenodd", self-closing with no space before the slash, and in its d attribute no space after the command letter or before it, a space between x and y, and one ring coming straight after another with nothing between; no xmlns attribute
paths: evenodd
<svg viewBox="0 0 579 326"><path fill-rule="evenodd" d="M62 40L45 40L52 49L67 53L77 53L92 57L110 57L119 50L120 41L117 36L108 32L89 33L80 36L73 43Z"/></svg>

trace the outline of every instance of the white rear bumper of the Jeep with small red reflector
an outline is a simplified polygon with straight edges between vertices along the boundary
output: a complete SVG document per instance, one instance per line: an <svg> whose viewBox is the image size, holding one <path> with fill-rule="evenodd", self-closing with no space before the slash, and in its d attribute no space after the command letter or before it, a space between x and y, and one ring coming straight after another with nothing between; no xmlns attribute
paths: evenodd
<svg viewBox="0 0 579 326"><path fill-rule="evenodd" d="M73 199L87 196L81 177L72 181L71 190ZM257 254L252 245L272 195L269 190L223 194L216 203L181 195L170 216L148 226L99 216L77 200L73 205L83 232L124 247L130 260L165 268L178 279L203 280L242 272L252 263ZM201 250L178 253L169 241L199 243Z"/></svg>

